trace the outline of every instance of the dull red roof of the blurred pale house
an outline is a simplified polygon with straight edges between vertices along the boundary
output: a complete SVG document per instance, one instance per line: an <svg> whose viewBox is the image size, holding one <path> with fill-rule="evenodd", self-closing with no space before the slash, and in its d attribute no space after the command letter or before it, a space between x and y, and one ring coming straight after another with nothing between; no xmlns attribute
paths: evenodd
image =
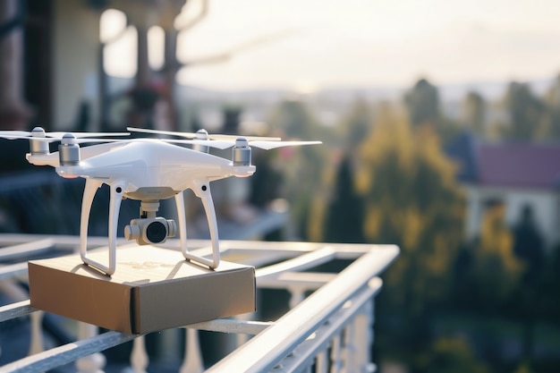
<svg viewBox="0 0 560 373"><path fill-rule="evenodd" d="M478 150L481 184L530 188L560 185L560 145L479 144Z"/></svg>

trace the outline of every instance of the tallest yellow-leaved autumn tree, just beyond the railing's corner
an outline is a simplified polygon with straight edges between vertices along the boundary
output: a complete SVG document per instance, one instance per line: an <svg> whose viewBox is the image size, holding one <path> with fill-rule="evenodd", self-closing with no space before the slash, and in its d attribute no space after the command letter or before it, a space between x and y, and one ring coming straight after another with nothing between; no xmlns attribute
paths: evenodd
<svg viewBox="0 0 560 373"><path fill-rule="evenodd" d="M433 127L412 131L390 107L378 110L360 161L366 239L401 248L384 275L378 307L379 318L395 320L395 327L378 326L378 335L386 349L395 348L414 365L419 354L428 353L432 318L452 284L462 242L462 191Z"/></svg>

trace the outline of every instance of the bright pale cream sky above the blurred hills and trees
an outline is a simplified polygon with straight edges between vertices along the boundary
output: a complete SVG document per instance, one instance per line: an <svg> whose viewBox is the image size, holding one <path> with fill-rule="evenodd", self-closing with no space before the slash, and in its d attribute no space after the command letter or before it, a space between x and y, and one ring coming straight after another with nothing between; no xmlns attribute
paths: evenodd
<svg viewBox="0 0 560 373"><path fill-rule="evenodd" d="M196 12L191 0L182 17ZM547 79L560 72L558 20L558 0L209 0L208 16L179 39L183 62L268 41L178 80L307 92Z"/></svg>

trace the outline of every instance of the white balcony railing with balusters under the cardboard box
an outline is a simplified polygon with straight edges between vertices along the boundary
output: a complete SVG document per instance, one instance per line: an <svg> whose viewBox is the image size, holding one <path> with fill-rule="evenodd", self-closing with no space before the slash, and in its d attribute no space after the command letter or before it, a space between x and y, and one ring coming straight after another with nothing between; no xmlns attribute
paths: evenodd
<svg viewBox="0 0 560 373"><path fill-rule="evenodd" d="M209 255L209 242L191 241L200 255ZM92 247L106 238L89 240ZM74 370L110 370L105 350L133 341L130 369L144 372L151 356L145 335L115 331L98 334L96 326L73 322L76 341L44 346L41 318L44 312L25 299L26 260L77 250L79 237L0 234L0 285L13 303L0 308L0 322L30 317L29 356L9 362L2 372L41 372L74 363ZM171 241L169 250L178 250ZM373 342L374 300L381 288L378 276L396 258L390 245L327 244L306 242L221 242L223 258L257 268L258 289L284 289L290 294L288 310L276 321L259 321L260 312L236 318L216 319L185 330L185 351L176 371L191 372L371 372L375 365ZM329 263L344 263L344 269L324 270ZM67 323L66 323L67 324ZM1 326L2 324L0 324ZM225 355L216 364L205 363L198 330L230 335ZM237 337L231 337L237 335ZM176 341L171 341L176 343ZM180 343L182 344L182 343ZM2 346L0 346L2 347ZM211 366L209 366L211 365ZM208 367L209 366L209 367Z"/></svg>

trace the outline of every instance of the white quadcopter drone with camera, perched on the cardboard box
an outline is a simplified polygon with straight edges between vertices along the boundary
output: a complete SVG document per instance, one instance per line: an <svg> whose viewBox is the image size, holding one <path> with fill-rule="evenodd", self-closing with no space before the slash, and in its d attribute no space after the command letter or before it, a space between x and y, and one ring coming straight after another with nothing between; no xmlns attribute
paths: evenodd
<svg viewBox="0 0 560 373"><path fill-rule="evenodd" d="M160 199L174 197L179 220L179 236L185 259L216 268L220 262L216 212L209 182L230 176L248 177L255 172L251 165L251 149L320 144L320 141L281 141L279 138L208 135L207 131L185 133L127 128L128 131L174 135L179 139L97 139L103 136L124 136L123 133L46 132L36 127L27 131L0 131L5 139L30 140L27 160L33 165L51 165L64 178L86 179L81 203L80 253L83 262L108 276L115 273L116 236L121 201L140 200L140 217L124 227L124 237L138 244L163 243L177 232L174 220L157 216ZM50 153L49 142L60 141L58 151ZM80 148L80 143L101 144ZM191 144L183 148L173 144ZM209 148L233 147L232 160L208 154ZM98 188L110 188L109 199L109 263L105 266L88 258L87 240L89 212ZM187 248L187 228L182 191L191 189L202 200L212 242L212 259L191 254Z"/></svg>

